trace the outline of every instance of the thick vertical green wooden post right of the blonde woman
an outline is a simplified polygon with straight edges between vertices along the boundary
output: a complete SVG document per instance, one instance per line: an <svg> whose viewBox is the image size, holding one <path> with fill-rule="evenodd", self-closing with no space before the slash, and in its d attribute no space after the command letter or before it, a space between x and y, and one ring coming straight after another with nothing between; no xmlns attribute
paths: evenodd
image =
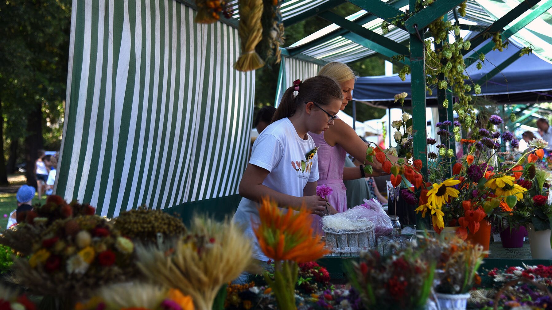
<svg viewBox="0 0 552 310"><path fill-rule="evenodd" d="M414 10L416 0L410 0L410 9ZM418 34L420 38L418 38ZM421 159L423 175L427 175L427 130L426 130L426 60L424 53L424 29L418 28L410 35L410 69L412 98L412 138L415 159ZM421 39L421 40L420 40ZM416 213L417 229L431 229L429 218Z"/></svg>

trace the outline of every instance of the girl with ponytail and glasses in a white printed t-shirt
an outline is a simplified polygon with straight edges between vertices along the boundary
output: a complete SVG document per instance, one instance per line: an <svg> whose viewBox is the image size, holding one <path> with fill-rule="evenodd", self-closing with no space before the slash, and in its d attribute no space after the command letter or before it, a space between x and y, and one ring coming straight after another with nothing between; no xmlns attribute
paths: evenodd
<svg viewBox="0 0 552 310"><path fill-rule="evenodd" d="M259 222L258 202L263 197L283 208L298 210L304 205L312 214L326 215L326 200L316 195L318 160L316 154L307 157L315 149L307 132L320 133L333 125L343 95L339 84L326 76L294 85L285 91L272 124L253 143L239 187L243 199L233 217L246 228L254 245L253 257L261 261L268 258L258 246L252 222Z"/></svg>

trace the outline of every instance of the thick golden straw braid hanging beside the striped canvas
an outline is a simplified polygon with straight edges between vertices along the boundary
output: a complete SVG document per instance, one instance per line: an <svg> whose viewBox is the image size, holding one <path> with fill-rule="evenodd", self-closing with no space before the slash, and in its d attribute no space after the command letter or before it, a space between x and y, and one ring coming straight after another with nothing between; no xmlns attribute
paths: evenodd
<svg viewBox="0 0 552 310"><path fill-rule="evenodd" d="M234 64L238 71L251 71L264 66L264 61L255 51L261 41L263 26L263 0L240 0L240 25L238 34L242 45L242 55Z"/></svg>

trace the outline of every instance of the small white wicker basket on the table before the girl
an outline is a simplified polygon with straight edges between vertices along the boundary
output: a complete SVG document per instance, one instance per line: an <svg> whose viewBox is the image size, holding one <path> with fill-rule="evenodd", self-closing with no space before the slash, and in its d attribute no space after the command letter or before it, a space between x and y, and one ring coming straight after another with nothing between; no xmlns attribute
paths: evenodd
<svg viewBox="0 0 552 310"><path fill-rule="evenodd" d="M326 234L326 248L332 253L328 256L358 256L360 252L376 247L374 224L360 229L332 229L323 227Z"/></svg>

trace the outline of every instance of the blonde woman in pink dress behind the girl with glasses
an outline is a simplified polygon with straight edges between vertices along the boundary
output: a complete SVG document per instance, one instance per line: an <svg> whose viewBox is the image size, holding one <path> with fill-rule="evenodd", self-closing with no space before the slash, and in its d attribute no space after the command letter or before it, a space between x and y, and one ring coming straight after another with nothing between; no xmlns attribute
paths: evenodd
<svg viewBox="0 0 552 310"><path fill-rule="evenodd" d="M343 101L339 110L345 109L350 100L353 99L352 91L354 88L355 74L349 66L340 62L331 62L322 67L318 73L322 76L334 78L343 92ZM347 210L347 194L343 180L360 179L364 184L365 177L372 177L386 174L382 172L381 164L377 161L370 164L374 168L371 175L364 174L363 167L344 167L347 153L351 154L357 161L364 163L366 157L367 144L357 135L357 133L341 119L336 119L333 126L322 133L312 133L309 135L314 140L318 149L318 166L320 179L319 185L326 184L333 189L332 195L328 197L330 204L338 211ZM396 157L390 157L392 162L396 162ZM361 201L368 198L367 185L365 194L360 192L358 199ZM364 196L364 197L360 197Z"/></svg>

